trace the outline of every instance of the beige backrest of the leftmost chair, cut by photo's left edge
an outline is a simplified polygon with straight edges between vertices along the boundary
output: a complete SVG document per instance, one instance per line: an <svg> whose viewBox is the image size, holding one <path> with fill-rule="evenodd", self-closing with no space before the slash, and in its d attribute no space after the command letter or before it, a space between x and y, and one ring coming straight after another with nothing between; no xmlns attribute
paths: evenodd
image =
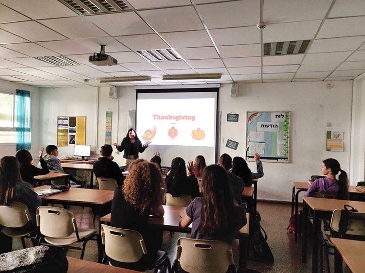
<svg viewBox="0 0 365 273"><path fill-rule="evenodd" d="M22 227L31 221L28 207L20 202L12 202L9 206L0 206L0 225L5 227Z"/></svg>

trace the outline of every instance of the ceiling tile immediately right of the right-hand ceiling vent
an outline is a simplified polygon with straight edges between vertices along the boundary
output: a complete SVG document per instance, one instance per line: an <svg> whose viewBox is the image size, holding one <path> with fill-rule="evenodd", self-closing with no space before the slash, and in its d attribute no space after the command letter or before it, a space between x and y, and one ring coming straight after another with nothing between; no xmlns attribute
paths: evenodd
<svg viewBox="0 0 365 273"><path fill-rule="evenodd" d="M316 39L308 53L351 51L356 50L365 42L365 36Z"/></svg>

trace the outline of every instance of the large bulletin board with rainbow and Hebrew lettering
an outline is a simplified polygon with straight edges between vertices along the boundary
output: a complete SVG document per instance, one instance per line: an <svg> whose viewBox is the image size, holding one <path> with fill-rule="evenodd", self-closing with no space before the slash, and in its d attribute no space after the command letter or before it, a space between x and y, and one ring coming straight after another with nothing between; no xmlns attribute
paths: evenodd
<svg viewBox="0 0 365 273"><path fill-rule="evenodd" d="M247 112L246 159L289 163L289 111Z"/></svg>

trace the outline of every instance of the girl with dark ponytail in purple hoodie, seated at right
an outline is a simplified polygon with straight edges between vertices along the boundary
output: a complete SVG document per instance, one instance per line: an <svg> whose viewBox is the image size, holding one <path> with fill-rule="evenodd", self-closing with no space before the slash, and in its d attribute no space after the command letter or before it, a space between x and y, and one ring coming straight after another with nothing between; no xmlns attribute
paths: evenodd
<svg viewBox="0 0 365 273"><path fill-rule="evenodd" d="M324 178L315 180L304 196L310 196L315 192L337 193L337 199L348 199L347 173L341 170L340 163L333 158L322 161L321 171ZM336 174L340 172L338 180Z"/></svg>

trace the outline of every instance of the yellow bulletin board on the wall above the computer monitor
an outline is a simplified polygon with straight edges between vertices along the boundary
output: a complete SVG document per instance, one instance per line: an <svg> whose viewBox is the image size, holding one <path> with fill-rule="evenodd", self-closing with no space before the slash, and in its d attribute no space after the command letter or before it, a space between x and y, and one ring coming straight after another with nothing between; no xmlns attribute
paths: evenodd
<svg viewBox="0 0 365 273"><path fill-rule="evenodd" d="M57 146L86 144L86 117L57 117Z"/></svg>

